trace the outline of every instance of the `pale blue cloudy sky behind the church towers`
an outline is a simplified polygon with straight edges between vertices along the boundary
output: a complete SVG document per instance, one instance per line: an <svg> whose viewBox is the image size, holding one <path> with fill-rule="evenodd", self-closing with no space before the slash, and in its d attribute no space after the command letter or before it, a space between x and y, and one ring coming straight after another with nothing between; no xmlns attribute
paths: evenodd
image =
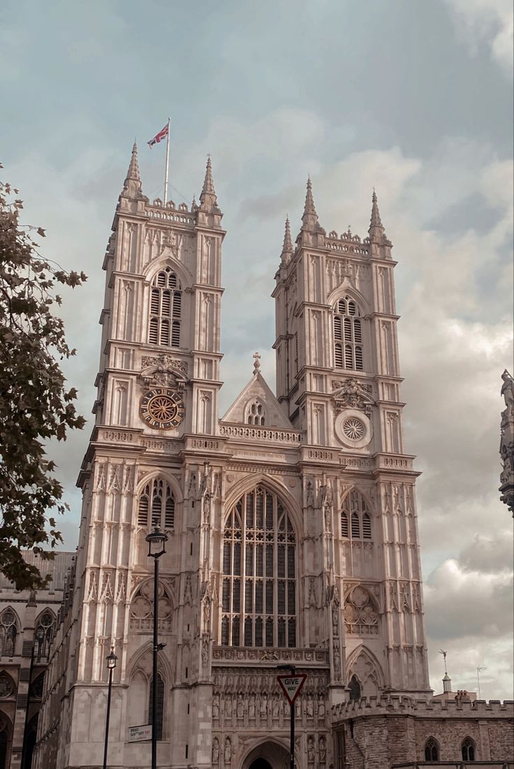
<svg viewBox="0 0 514 769"><path fill-rule="evenodd" d="M45 254L84 269L67 368L95 397L101 265L136 136L144 191L191 201L212 154L224 248L222 408L274 382L269 294L312 177L327 231L364 236L372 187L395 245L407 451L417 454L432 686L512 697L512 521L500 503L500 375L512 371L510 0L6 0L0 153ZM295 234L295 232L294 232ZM246 361L246 362L245 362ZM54 451L77 539L89 427Z"/></svg>

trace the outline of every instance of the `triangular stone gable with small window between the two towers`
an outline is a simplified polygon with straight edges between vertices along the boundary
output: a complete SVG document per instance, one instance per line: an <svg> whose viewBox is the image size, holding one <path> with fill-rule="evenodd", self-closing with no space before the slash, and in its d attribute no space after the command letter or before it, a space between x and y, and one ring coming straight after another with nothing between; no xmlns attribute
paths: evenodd
<svg viewBox="0 0 514 769"><path fill-rule="evenodd" d="M235 398L229 411L222 418L222 422L262 424L270 428L295 429L285 416L279 401L275 398L260 371L255 371L252 379Z"/></svg>

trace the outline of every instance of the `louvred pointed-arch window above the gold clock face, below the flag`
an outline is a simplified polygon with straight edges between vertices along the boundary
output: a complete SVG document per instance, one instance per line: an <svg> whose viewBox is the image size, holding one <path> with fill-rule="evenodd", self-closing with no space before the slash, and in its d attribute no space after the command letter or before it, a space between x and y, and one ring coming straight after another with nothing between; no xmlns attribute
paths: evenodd
<svg viewBox="0 0 514 769"><path fill-rule="evenodd" d="M150 290L149 343L180 347L182 291L179 279L166 267L155 275Z"/></svg>

